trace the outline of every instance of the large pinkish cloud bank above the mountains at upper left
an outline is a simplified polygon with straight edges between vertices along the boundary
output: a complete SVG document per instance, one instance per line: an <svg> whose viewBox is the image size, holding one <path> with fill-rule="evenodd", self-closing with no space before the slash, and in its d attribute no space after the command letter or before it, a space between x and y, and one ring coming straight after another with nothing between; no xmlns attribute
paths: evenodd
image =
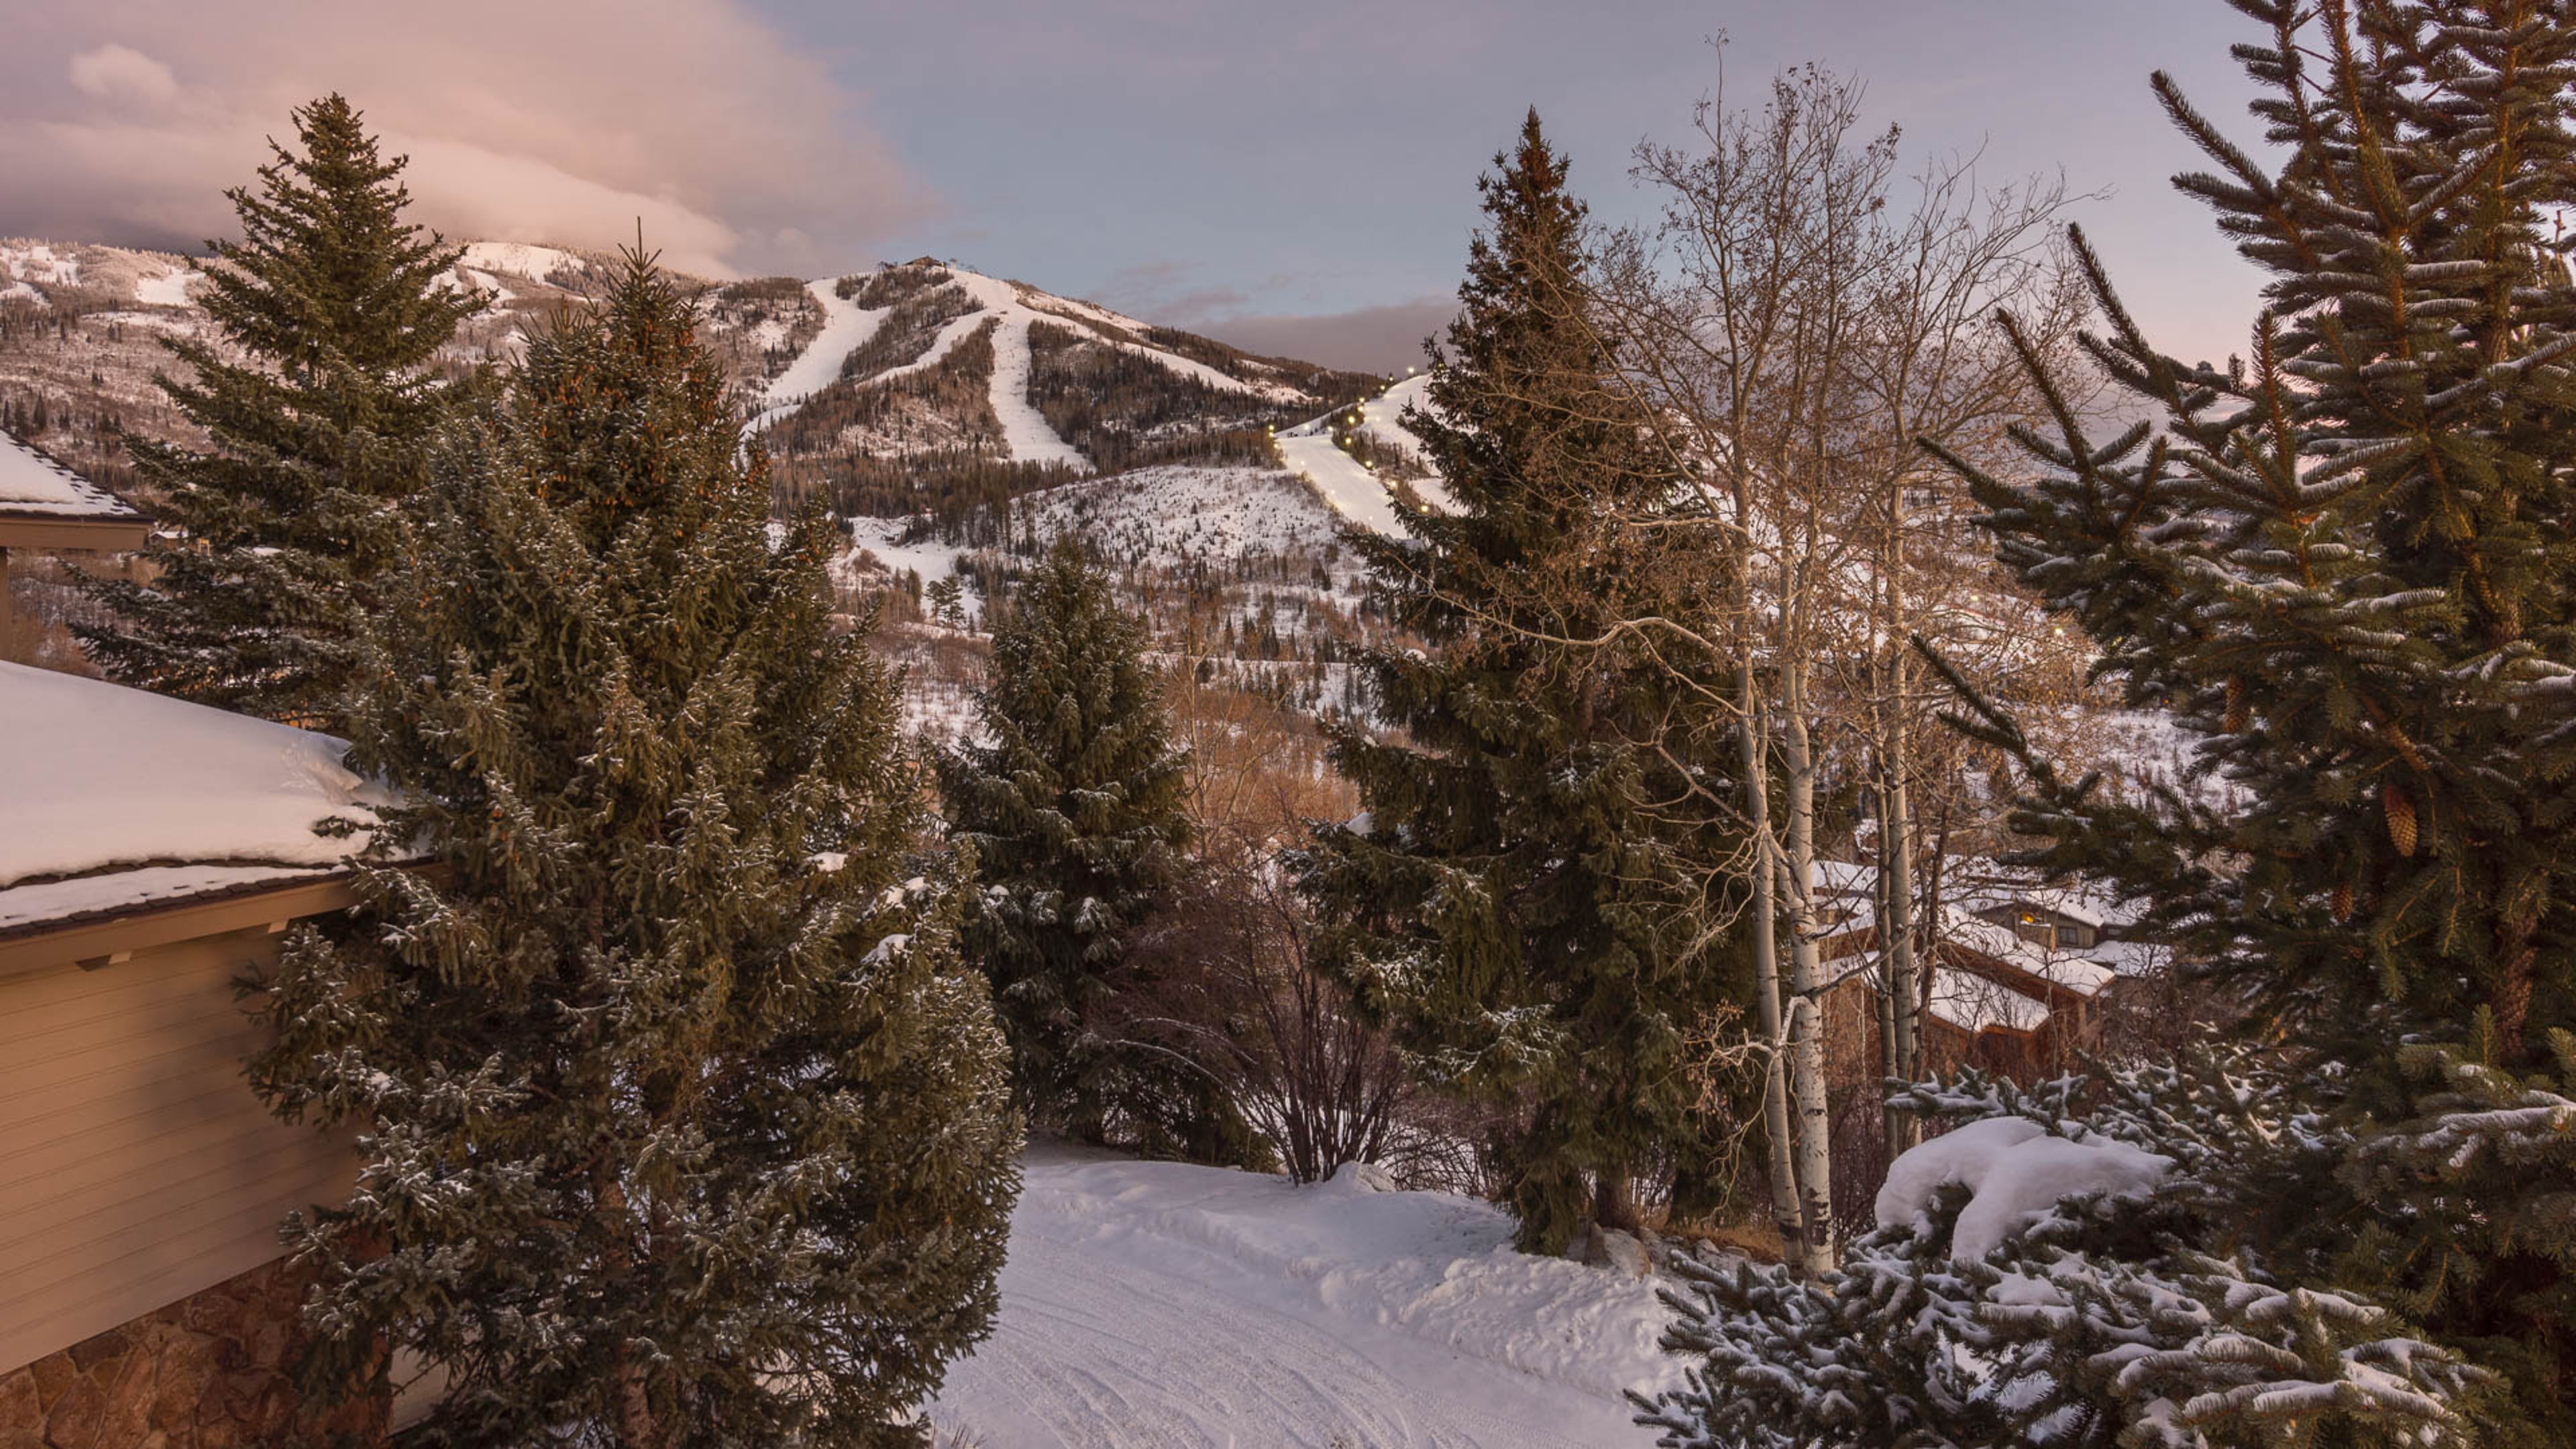
<svg viewBox="0 0 2576 1449"><path fill-rule="evenodd" d="M46 13L52 10L52 13ZM453 237L683 271L835 271L935 211L824 64L744 0L106 0L0 49L0 235L193 245L232 229L289 108L340 90Z"/></svg>

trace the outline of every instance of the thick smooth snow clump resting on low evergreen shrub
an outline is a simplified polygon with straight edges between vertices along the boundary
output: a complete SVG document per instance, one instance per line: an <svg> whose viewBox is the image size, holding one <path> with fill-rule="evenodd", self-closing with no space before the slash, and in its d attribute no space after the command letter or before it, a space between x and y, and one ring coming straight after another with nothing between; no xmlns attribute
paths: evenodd
<svg viewBox="0 0 2576 1449"><path fill-rule="evenodd" d="M2146 1191L2172 1165L2172 1158L2128 1142L2107 1137L2074 1142L2050 1137L2038 1122L2022 1116L1989 1116L1955 1127L1888 1163L1875 1217L1880 1227L1922 1222L1932 1209L1932 1194L1942 1183L1960 1183L1971 1199L1953 1227L1950 1256L1976 1261L2063 1196Z"/></svg>

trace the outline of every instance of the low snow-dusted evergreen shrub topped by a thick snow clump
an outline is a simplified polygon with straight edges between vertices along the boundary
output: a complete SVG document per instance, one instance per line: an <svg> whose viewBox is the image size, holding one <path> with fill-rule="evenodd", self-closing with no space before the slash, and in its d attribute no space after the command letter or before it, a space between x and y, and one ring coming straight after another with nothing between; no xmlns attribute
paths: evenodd
<svg viewBox="0 0 2576 1449"><path fill-rule="evenodd" d="M1713 1271L1664 1346L1705 1359L1641 1423L1672 1449L2473 1444L2488 1379L2396 1315L2231 1243L2267 1183L2354 1142L2244 1047L2040 1088L1965 1073L1842 1271Z"/></svg>

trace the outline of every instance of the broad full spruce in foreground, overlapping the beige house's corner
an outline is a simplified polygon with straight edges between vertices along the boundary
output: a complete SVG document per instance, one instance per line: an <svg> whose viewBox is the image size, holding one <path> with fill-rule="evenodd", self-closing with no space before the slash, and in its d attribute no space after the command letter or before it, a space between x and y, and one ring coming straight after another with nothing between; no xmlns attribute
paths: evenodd
<svg viewBox="0 0 2576 1449"><path fill-rule="evenodd" d="M443 443L353 717L402 804L268 982L255 1083L366 1129L309 1382L443 1366L428 1444L917 1444L994 1312L1020 1132L894 678L690 327L634 255Z"/></svg>

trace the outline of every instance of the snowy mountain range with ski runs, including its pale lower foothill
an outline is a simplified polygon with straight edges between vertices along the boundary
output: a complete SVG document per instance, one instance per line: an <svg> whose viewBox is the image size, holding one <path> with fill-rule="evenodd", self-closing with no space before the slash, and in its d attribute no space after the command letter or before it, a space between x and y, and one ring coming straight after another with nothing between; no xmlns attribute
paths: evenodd
<svg viewBox="0 0 2576 1449"><path fill-rule="evenodd" d="M0 240L0 425L131 492L121 433L196 441L152 376L173 366L173 335L222 348L204 266ZM613 268L603 253L464 245L443 286L484 304L446 364L507 361ZM1162 632L1206 634L1247 668L1306 668L1309 691L1337 683L1324 639L1360 629L1363 593L1340 526L1394 523L1383 487L1422 472L1396 425L1419 382L1388 392L930 258L680 281L775 492L853 518L845 585L917 590L958 570L971 614L1015 567L994 547L1079 534Z"/></svg>

